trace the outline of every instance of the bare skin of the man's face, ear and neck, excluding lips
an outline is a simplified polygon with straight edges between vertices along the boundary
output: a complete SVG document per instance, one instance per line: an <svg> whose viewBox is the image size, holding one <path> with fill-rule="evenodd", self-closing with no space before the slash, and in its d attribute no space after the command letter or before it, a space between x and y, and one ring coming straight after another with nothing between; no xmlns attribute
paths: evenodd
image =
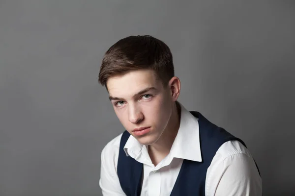
<svg viewBox="0 0 295 196"><path fill-rule="evenodd" d="M154 71L137 70L110 77L107 88L120 123L148 146L151 161L157 165L170 152L179 128L179 78L172 77L164 87ZM133 129L140 127L150 127L150 131L134 135Z"/></svg>

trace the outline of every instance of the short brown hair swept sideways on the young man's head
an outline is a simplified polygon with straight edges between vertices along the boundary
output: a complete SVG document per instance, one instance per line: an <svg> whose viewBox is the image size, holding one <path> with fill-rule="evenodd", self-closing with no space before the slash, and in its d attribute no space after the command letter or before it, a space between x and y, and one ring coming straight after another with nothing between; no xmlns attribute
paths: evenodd
<svg viewBox="0 0 295 196"><path fill-rule="evenodd" d="M98 81L107 87L108 78L133 70L151 69L166 86L174 76L172 53L169 47L152 36L129 36L119 40L103 57Z"/></svg>

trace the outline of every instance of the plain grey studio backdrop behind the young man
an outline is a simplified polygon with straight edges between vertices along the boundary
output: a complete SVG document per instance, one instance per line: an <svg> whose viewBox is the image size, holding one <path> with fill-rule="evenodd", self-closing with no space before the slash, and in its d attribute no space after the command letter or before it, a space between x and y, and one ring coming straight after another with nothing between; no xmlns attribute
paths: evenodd
<svg viewBox="0 0 295 196"><path fill-rule="evenodd" d="M292 0L0 0L0 195L101 194L123 127L100 62L138 34L171 48L179 101L246 142L264 195L295 195Z"/></svg>

